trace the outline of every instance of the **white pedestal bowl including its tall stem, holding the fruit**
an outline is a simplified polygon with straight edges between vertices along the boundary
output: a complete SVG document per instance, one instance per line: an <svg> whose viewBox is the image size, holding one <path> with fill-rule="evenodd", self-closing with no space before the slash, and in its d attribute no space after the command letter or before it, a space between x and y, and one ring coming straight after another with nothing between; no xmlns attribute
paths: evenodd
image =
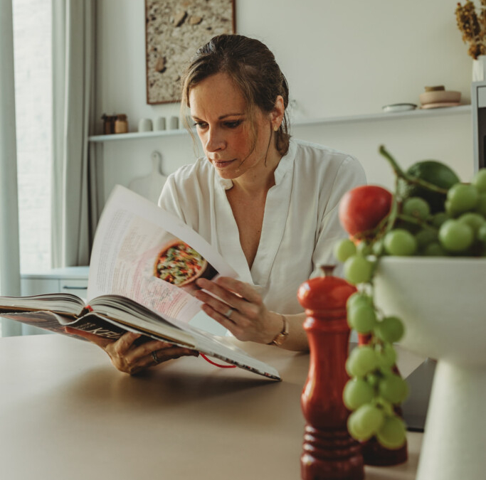
<svg viewBox="0 0 486 480"><path fill-rule="evenodd" d="M376 306L438 361L417 480L486 478L486 258L382 257Z"/></svg>

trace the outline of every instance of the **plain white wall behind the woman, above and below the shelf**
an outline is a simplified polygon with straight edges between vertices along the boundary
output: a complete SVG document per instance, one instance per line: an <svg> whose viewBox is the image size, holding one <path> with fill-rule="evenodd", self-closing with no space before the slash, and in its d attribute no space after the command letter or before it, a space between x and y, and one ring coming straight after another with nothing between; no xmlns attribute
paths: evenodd
<svg viewBox="0 0 486 480"><path fill-rule="evenodd" d="M470 102L472 60L455 25L457 0L236 0L237 33L268 44L287 76L293 119L381 112L413 102L426 85L459 90ZM147 105L144 0L98 3L97 113L141 117L178 114L179 106ZM101 133L102 122L100 120ZM348 151L364 165L370 183L391 188L389 166L377 154L385 144L407 166L433 158L463 180L473 171L470 114L292 128L295 137ZM110 142L103 148L105 194L148 174L159 150L164 173L194 159L189 135Z"/></svg>

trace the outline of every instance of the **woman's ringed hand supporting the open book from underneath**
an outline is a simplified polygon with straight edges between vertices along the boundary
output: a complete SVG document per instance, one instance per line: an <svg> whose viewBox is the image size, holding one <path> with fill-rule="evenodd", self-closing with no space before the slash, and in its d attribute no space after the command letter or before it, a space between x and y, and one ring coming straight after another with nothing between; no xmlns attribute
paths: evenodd
<svg viewBox="0 0 486 480"><path fill-rule="evenodd" d="M70 327L66 327L65 330L68 334L81 336L95 343L108 354L115 368L130 375L139 373L145 368L157 366L159 363L173 358L199 355L197 351L174 346L171 343L159 340L149 340L138 344L136 340L142 335L132 332L127 332L114 341L86 331L71 329Z"/></svg>

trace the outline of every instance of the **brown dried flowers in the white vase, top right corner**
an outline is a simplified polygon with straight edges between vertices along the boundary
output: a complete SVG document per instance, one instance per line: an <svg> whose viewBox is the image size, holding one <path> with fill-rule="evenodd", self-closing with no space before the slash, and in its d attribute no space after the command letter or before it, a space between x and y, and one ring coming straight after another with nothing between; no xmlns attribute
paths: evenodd
<svg viewBox="0 0 486 480"><path fill-rule="evenodd" d="M475 4L467 0L464 5L458 3L455 9L455 19L458 28L463 33L463 42L469 43L467 53L474 59L486 54L486 0L481 1L479 14Z"/></svg>

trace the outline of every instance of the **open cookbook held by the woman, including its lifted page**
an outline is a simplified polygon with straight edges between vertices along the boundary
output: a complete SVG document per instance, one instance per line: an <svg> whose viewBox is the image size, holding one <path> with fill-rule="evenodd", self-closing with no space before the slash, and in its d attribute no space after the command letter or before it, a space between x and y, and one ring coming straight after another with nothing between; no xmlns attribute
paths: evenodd
<svg viewBox="0 0 486 480"><path fill-rule="evenodd" d="M221 336L189 324L201 311L195 280L236 277L227 262L179 218L116 186L97 226L88 304L72 294L0 297L0 316L68 334L65 327L120 338L126 331L191 348L268 378L275 368ZM82 338L82 337L78 337Z"/></svg>

